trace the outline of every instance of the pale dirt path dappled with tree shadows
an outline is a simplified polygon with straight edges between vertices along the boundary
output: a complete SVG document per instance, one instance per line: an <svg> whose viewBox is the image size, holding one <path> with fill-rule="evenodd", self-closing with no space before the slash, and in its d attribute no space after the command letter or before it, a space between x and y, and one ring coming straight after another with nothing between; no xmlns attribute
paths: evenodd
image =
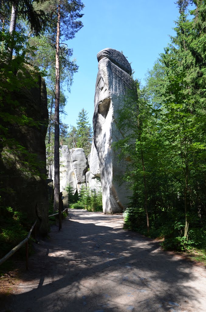
<svg viewBox="0 0 206 312"><path fill-rule="evenodd" d="M70 217L37 245L7 311L206 311L204 267L124 231L122 216Z"/></svg>

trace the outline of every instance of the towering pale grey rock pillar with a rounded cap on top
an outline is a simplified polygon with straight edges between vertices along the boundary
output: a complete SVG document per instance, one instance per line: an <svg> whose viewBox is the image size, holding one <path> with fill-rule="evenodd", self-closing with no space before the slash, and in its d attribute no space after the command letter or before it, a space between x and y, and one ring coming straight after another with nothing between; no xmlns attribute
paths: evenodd
<svg viewBox="0 0 206 312"><path fill-rule="evenodd" d="M124 55L106 48L97 54L98 73L94 100L94 145L99 158L104 213L122 212L129 202L130 192L118 178L125 172L126 163L117 162L111 144L122 138L115 126L117 110L123 105L121 96L132 88L131 66Z"/></svg>

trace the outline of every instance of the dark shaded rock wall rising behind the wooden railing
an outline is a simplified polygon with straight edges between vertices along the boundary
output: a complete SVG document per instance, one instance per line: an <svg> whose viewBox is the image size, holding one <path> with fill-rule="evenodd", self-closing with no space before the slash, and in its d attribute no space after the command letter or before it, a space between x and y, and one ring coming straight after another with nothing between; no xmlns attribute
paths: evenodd
<svg viewBox="0 0 206 312"><path fill-rule="evenodd" d="M33 69L28 65L27 68L29 75L30 69ZM6 124L8 128L7 142L10 141L10 145L0 146L0 188L3 186L2 192L4 192L1 194L3 195L1 204L5 207L11 206L14 211L24 212L30 223L38 219L37 225L40 233L46 234L49 229L47 183L43 177L35 174L31 169L32 161L36 157L35 162L37 165L39 164L37 169L46 177L45 135L48 125L48 110L45 82L39 76L36 87L29 90L22 88L18 92L14 92L11 97L18 101L19 105L16 105L12 111L8 105L5 105L3 111L20 116L19 107L23 107L24 115L27 118L32 118L35 122L40 122L40 126L17 122ZM21 151L16 152L19 146L25 149L28 156L21 154ZM26 157L32 154L36 156L27 160Z"/></svg>

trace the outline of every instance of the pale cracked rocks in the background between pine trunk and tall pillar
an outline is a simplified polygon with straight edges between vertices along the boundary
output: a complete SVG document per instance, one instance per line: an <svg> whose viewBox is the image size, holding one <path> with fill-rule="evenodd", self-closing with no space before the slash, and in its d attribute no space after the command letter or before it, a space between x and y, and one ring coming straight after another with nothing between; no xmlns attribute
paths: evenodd
<svg viewBox="0 0 206 312"><path fill-rule="evenodd" d="M60 192L63 192L68 184L72 187L73 194L80 193L82 186L87 187L85 174L88 170L88 162L83 149L68 149L63 145L60 151Z"/></svg>

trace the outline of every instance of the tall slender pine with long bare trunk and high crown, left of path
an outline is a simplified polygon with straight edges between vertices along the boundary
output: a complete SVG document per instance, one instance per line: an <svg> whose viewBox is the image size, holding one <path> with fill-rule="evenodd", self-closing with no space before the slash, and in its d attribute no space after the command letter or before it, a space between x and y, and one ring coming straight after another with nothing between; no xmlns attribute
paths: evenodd
<svg viewBox="0 0 206 312"><path fill-rule="evenodd" d="M60 102L60 57L62 55L61 42L65 39L73 39L76 32L82 28L79 20L83 16L80 11L84 4L80 0L47 0L39 6L44 12L50 13L49 32L56 49L55 53L55 113L54 113L54 211L59 208L59 102ZM65 45L64 45L65 46ZM65 50L66 51L66 50ZM70 68L70 51L63 58L65 67ZM70 76L68 75L68 80ZM67 84L69 86L69 83Z"/></svg>

